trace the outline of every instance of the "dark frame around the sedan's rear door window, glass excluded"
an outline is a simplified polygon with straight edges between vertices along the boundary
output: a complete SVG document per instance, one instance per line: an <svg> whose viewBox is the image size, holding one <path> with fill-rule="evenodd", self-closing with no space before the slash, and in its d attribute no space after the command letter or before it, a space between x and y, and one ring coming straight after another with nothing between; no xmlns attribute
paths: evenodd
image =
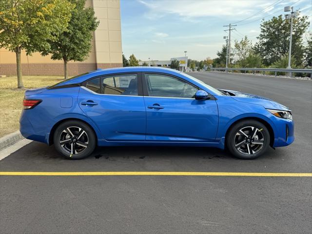
<svg viewBox="0 0 312 234"><path fill-rule="evenodd" d="M86 88L87 90L89 90L86 85L87 85L87 82L92 80L92 79L96 79L96 78L100 78L100 84L103 83L103 79L104 78L107 78L107 77L113 77L114 78L114 83L115 83L115 86L116 86L116 82L115 82L115 77L116 76L119 76L119 75L131 75L131 74L136 74L137 75L137 96L131 96L131 95L114 95L114 96L129 96L129 97L142 97L143 96L143 85L142 85L142 73L141 72L121 72L121 73L112 73L112 74L107 74L107 75L99 75L99 76L95 76L95 77L92 77L92 78L89 78L85 81L83 81L81 83L81 86ZM95 93L95 94L98 94L98 95L111 95L111 94L103 94L103 91L102 91L102 85L100 85L100 89L101 89L101 93L96 93L92 90L90 90L92 93Z"/></svg>

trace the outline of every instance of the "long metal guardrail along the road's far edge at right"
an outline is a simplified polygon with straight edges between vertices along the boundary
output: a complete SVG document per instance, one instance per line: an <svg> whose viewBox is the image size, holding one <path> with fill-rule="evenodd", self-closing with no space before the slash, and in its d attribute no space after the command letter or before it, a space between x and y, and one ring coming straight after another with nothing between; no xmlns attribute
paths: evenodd
<svg viewBox="0 0 312 234"><path fill-rule="evenodd" d="M253 71L253 73L259 71L263 72L263 75L265 75L265 72L275 72L275 77L277 76L277 72L285 72L289 73L290 77L292 77L293 73L310 73L310 77L312 78L312 69L289 69L289 68L239 68L239 67L212 67L210 68L211 71Z"/></svg>

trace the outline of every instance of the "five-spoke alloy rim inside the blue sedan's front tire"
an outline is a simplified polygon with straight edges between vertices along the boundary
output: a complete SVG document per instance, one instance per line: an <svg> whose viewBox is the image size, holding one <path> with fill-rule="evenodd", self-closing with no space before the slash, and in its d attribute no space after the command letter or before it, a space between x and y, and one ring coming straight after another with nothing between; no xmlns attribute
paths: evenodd
<svg viewBox="0 0 312 234"><path fill-rule="evenodd" d="M236 150L245 155L253 155L259 152L264 143L262 130L253 126L247 126L237 131L234 137Z"/></svg>

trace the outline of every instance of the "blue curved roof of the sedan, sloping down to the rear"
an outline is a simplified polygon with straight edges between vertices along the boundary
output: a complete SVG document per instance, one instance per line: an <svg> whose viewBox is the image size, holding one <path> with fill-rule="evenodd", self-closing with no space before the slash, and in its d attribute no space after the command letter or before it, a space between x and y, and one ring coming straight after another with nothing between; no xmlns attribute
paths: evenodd
<svg viewBox="0 0 312 234"><path fill-rule="evenodd" d="M180 71L171 69L171 68L164 68L164 67L116 67L116 68L107 68L107 69L98 69L95 71L91 71L85 74L78 75L77 77L69 78L61 83L58 83L54 86L60 85L68 85L68 84L75 84L81 83L89 78L97 77L97 76L105 76L114 73L127 73L127 72L160 72L166 74L179 74Z"/></svg>

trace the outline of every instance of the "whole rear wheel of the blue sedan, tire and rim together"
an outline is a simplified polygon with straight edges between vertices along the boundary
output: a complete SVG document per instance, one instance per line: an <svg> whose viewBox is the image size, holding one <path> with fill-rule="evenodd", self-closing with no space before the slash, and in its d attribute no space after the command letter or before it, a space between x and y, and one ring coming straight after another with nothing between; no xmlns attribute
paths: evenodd
<svg viewBox="0 0 312 234"><path fill-rule="evenodd" d="M61 123L54 132L53 140L56 150L68 159L85 158L96 148L94 131L78 120Z"/></svg>

